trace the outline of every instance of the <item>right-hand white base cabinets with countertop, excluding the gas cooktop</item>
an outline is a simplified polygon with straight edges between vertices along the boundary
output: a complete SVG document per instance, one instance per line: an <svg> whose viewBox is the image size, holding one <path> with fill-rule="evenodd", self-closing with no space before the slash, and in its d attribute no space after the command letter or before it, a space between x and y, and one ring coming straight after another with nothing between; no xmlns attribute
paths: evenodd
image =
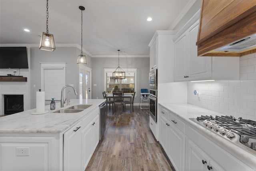
<svg viewBox="0 0 256 171"><path fill-rule="evenodd" d="M223 114L190 104L160 103L159 142L177 171L255 171L256 151L191 118ZM167 137L167 138L166 138Z"/></svg>

